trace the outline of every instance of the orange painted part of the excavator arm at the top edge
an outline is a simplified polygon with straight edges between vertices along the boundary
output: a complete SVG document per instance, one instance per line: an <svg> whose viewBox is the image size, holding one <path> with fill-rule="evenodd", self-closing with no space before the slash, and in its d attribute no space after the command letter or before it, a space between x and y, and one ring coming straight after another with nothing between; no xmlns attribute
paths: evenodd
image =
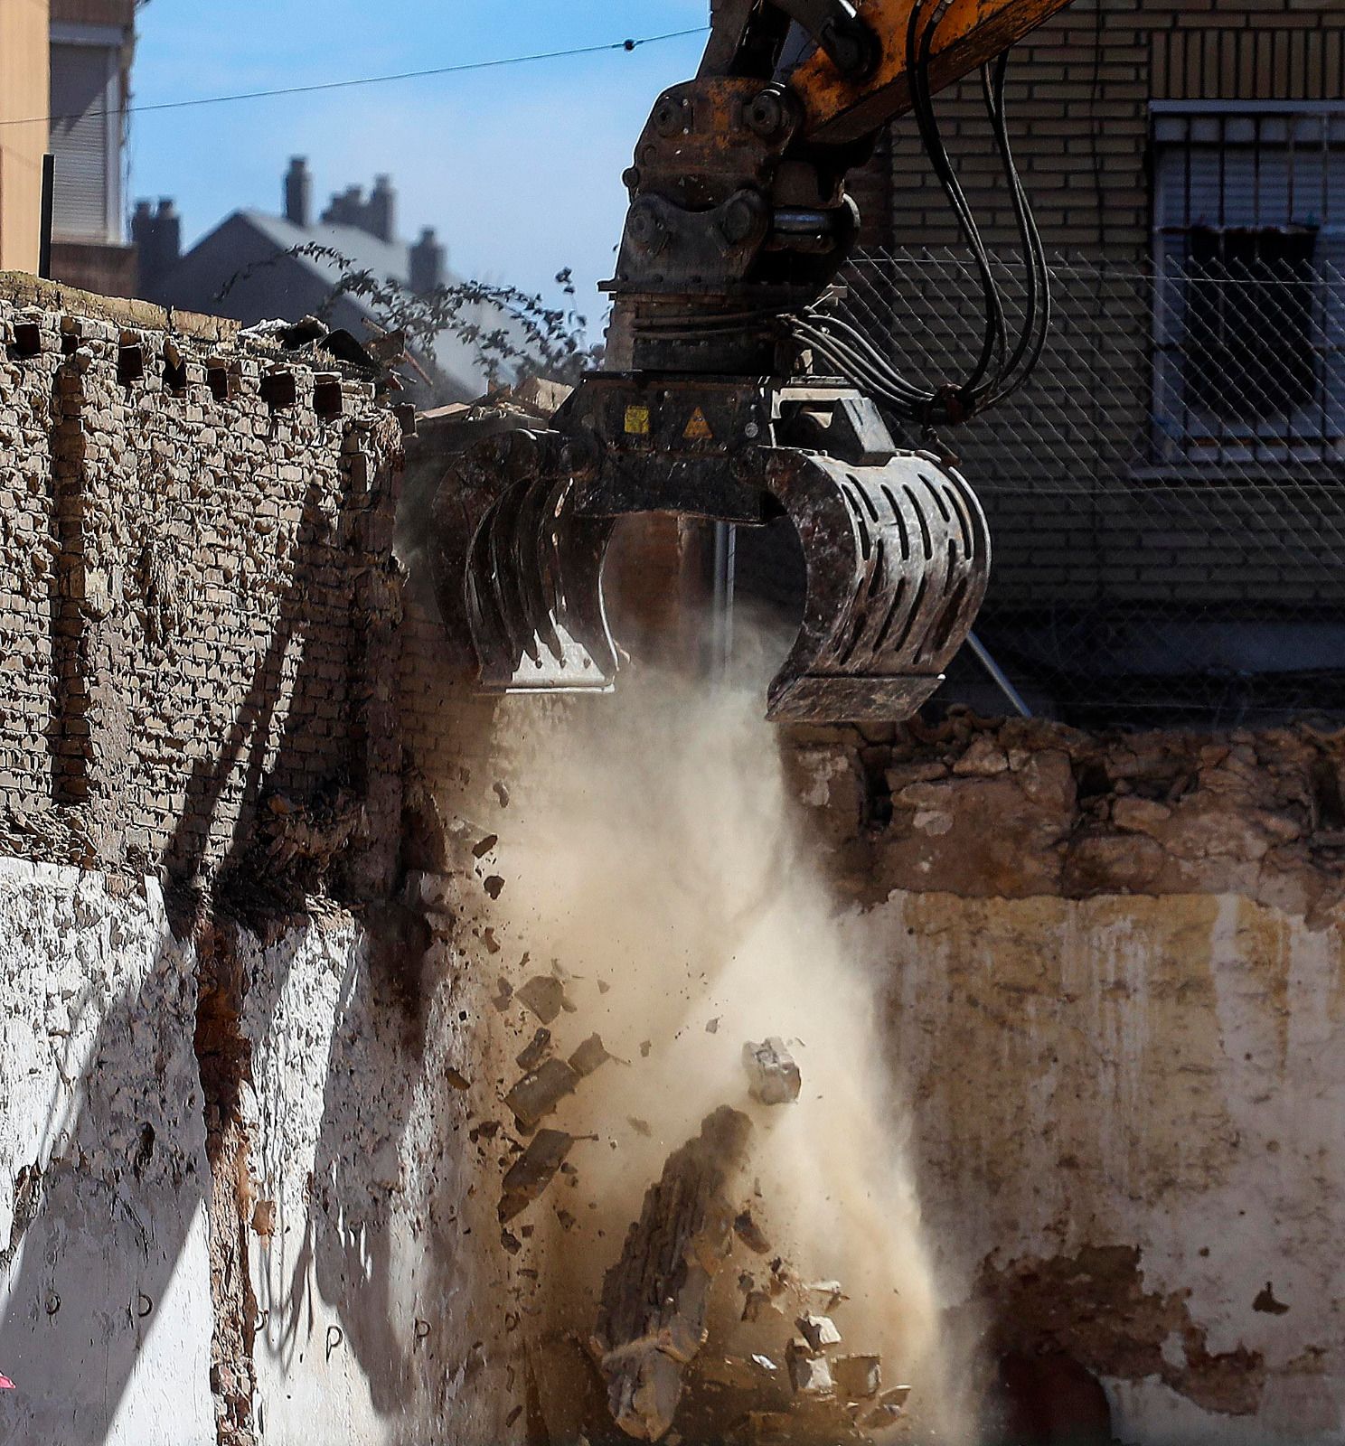
<svg viewBox="0 0 1345 1446"><path fill-rule="evenodd" d="M952 85L1017 45L1063 10L1069 0L952 0L937 22L930 51L933 90ZM911 108L907 27L913 0L861 0L861 20L878 38L882 56L866 80L847 80L821 52L791 75L804 107L803 133L823 145L861 140Z"/></svg>

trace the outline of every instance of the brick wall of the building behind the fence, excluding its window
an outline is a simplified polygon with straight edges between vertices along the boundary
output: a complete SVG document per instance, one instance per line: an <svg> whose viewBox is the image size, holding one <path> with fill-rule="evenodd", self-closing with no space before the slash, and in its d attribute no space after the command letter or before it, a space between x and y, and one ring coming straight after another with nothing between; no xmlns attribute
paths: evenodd
<svg viewBox="0 0 1345 1446"><path fill-rule="evenodd" d="M1319 0L1075 0L1014 52L1009 124L1056 263L1053 328L1022 392L944 434L991 523L988 639L1001 622L1054 636L1062 613L1089 613L1134 628L1135 652L1158 656L1163 619L1341 617L1339 453L1278 437L1202 445L1171 415L1179 386L1156 402L1150 103L1342 95L1345 9ZM1012 259L979 78L937 104L982 236ZM910 375L959 377L979 348L979 283L910 120L888 155L878 244L901 260L859 268L858 317Z"/></svg>

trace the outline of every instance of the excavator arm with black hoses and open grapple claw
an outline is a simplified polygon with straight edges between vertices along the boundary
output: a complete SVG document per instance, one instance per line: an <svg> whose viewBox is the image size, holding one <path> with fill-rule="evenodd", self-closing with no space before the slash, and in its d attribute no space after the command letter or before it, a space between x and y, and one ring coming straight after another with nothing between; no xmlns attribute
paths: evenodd
<svg viewBox="0 0 1345 1446"><path fill-rule="evenodd" d="M936 429L1020 386L1049 324L1008 143L1007 52L1066 3L714 0L699 74L658 97L623 176L603 370L545 429L461 453L435 497L440 607L486 690L610 690L603 554L616 519L671 512L739 526L784 515L797 529L804 615L768 717L900 720L933 694L991 561ZM933 104L976 69L1022 250L1012 327ZM937 385L900 375L829 304L859 234L846 176L905 114L985 302L979 356Z"/></svg>

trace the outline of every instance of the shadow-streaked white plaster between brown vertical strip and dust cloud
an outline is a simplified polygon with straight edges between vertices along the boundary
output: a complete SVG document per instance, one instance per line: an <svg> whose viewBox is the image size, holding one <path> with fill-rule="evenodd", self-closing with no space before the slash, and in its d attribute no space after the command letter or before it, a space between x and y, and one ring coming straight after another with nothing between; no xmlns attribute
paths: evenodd
<svg viewBox="0 0 1345 1446"><path fill-rule="evenodd" d="M424 1017L353 924L250 946L250 1167L262 1437L503 1442L524 1369L503 1343L495 1197L466 1150L486 1019L437 940ZM398 967L398 960L390 962ZM473 1077L473 1092L448 1083Z"/></svg>

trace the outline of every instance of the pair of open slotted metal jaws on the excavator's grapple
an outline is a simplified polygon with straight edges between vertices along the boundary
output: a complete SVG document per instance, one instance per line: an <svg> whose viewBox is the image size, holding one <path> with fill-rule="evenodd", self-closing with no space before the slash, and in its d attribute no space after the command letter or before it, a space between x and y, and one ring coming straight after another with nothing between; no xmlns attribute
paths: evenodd
<svg viewBox="0 0 1345 1446"><path fill-rule="evenodd" d="M454 458L435 502L444 620L470 636L487 691L610 691L618 656L600 577L615 515L716 515L674 489L668 458L633 453L620 458L620 505L594 512L565 444L558 431L489 438ZM930 453L868 466L800 447L745 457L736 486L752 506L740 515L761 516L774 499L807 562L803 625L767 716L910 717L943 681L985 596L989 536L970 487Z"/></svg>

